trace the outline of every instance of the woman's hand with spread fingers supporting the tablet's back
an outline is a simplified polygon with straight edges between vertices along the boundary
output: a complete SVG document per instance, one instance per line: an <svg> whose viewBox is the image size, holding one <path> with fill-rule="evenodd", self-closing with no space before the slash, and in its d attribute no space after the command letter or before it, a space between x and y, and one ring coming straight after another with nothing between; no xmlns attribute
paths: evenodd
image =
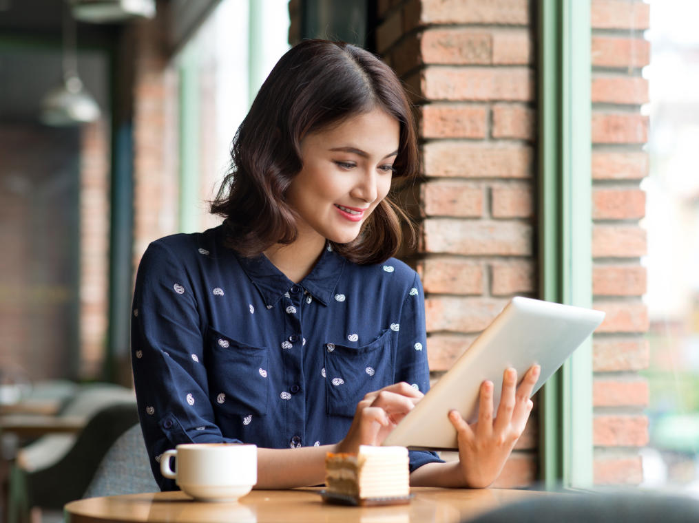
<svg viewBox="0 0 699 523"><path fill-rule="evenodd" d="M524 432L533 403L530 396L541 368L531 367L517 387L517 371L506 369L500 406L493 419L493 383L480 389L478 420L468 425L459 412L449 412L459 441L459 462L467 487L484 488L500 475L514 444Z"/></svg>

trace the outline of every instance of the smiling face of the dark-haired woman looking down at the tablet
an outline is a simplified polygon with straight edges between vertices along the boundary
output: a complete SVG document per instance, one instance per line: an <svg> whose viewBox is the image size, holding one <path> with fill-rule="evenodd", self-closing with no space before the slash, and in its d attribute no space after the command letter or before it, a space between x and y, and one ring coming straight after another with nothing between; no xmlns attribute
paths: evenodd
<svg viewBox="0 0 699 523"><path fill-rule="evenodd" d="M391 187L400 131L375 108L303 139L303 168L287 191L299 238L343 244L359 235Z"/></svg>

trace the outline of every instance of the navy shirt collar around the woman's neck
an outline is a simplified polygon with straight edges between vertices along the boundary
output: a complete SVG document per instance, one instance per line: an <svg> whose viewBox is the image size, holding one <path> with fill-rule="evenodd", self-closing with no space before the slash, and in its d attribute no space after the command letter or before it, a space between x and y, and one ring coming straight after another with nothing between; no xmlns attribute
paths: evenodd
<svg viewBox="0 0 699 523"><path fill-rule="evenodd" d="M296 286L296 283L287 278L264 254L244 258L236 253L236 258L247 277L259 290L267 307L276 304L284 293ZM334 252L328 244L311 272L298 286L308 290L315 300L327 305L335 293L345 263L347 260Z"/></svg>

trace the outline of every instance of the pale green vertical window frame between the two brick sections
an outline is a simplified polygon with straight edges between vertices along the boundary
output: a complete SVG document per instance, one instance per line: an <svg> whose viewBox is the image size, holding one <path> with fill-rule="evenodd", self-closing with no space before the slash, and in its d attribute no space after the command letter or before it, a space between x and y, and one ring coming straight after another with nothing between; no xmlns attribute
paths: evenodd
<svg viewBox="0 0 699 523"><path fill-rule="evenodd" d="M544 300L591 307L591 26L589 0L538 10L539 271ZM547 488L593 483L592 345L540 394L540 476Z"/></svg>

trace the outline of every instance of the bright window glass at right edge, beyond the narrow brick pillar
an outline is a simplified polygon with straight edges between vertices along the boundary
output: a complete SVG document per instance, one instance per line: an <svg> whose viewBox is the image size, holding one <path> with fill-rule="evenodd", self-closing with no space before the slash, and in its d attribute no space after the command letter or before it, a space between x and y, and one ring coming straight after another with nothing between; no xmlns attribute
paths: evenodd
<svg viewBox="0 0 699 523"><path fill-rule="evenodd" d="M699 33L694 0L652 0L644 486L699 493Z"/></svg>

